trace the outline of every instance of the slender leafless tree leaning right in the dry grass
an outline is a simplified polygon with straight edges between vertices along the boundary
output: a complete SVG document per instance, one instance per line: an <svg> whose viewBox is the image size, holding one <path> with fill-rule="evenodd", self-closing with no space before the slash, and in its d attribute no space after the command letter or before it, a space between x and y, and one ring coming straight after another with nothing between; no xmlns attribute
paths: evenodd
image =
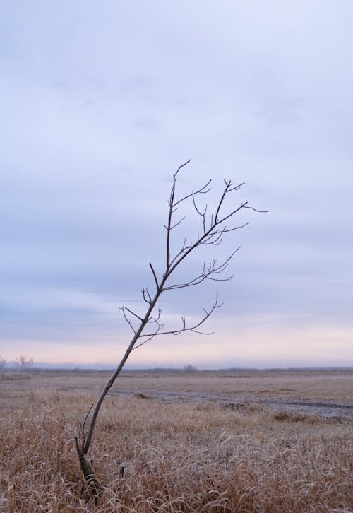
<svg viewBox="0 0 353 513"><path fill-rule="evenodd" d="M100 483L98 483L97 479L95 478L95 473L92 469L90 461L87 458L87 455L90 449L92 435L95 430L95 424L97 421L98 413L100 411L100 406L102 406L102 402L104 401L105 396L107 396L107 393L112 387L116 377L124 367L126 360L131 354L131 351L142 346L148 341L151 341L152 338L155 338L156 336L178 336L187 331L197 334L209 334L208 332L203 331L201 326L203 326L210 315L215 312L215 309L222 306L218 300L218 295L216 295L215 300L210 305L210 307L208 307L208 309L203 308L203 314L197 322L189 325L186 322L186 317L183 315L181 317L181 325L178 328L164 329L164 324L162 323L162 310L160 307L157 307L161 295L172 290L191 288L196 285L200 285L207 280L229 281L232 276L226 276L225 271L229 266L229 262L231 261L232 257L234 257L234 254L237 253L240 247L237 247L237 249L235 249L230 255L228 255L227 258L221 262L218 262L216 259L208 262L204 261L199 273L187 281L173 282L172 276L175 276L174 271L179 269L179 266L181 266L181 264L183 264L189 255L195 252L196 249L202 247L219 246L222 243L223 237L225 237L227 234L244 228L244 226L248 224L247 222L230 226L227 225L227 223L234 219L234 216L236 216L237 213L244 211L244 209L261 212L256 208L249 206L247 201L239 203L236 207L231 206L228 210L225 209L227 197L232 193L239 191L239 189L241 189L241 187L244 185L244 183L234 185L230 180L224 180L224 186L222 188L220 197L215 204L214 210L210 213L208 212L207 204L201 207L200 200L202 199L202 196L205 196L210 191L211 180L209 180L200 189L193 190L190 194L186 194L186 196L182 196L178 199L177 178L181 168L189 162L190 160L179 166L177 172L175 172L173 175L172 189L168 201L169 208L167 214L167 223L164 225L166 230L164 270L161 273L157 273L155 266L153 266L151 263L149 264L150 272L152 273L154 290L153 292L150 292L149 288L142 289L142 297L146 304L146 309L143 314L135 312L126 306L120 307L126 323L128 326L130 326L131 331L133 332L131 342L128 344L123 358L121 358L119 365L116 367L116 370L114 370L112 376L100 394L97 403L92 404L90 411L88 411L88 414L86 415L82 425L80 440L78 437L75 437L80 468L83 472L85 483L88 485L88 489L95 497L96 502L100 495ZM201 230L198 234L196 234L193 241L187 242L186 239L184 239L181 247L179 247L177 251L172 252L173 230L181 225L185 219L185 217L176 218L177 211L179 210L180 206L186 203L186 201L191 201L193 211L201 222ZM90 418L89 422L88 418ZM86 424L88 424L87 430L85 428Z"/></svg>

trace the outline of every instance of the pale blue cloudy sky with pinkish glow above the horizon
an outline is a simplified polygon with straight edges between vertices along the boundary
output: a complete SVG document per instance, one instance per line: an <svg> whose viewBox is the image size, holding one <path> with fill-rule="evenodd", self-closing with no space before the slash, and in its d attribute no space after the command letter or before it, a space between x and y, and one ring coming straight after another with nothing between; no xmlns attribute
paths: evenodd
<svg viewBox="0 0 353 513"><path fill-rule="evenodd" d="M225 283L166 293L213 335L164 336L131 367L353 365L353 4L68 1L0 6L0 353L114 365L165 261L178 194L246 182ZM180 211L180 215L183 213ZM186 205L174 247L200 229ZM215 249L213 254L210 249Z"/></svg>

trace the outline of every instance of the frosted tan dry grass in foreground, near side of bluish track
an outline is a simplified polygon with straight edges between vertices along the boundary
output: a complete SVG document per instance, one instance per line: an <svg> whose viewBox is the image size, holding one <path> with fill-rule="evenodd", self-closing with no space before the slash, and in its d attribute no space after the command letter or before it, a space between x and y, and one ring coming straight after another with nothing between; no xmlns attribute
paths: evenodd
<svg viewBox="0 0 353 513"><path fill-rule="evenodd" d="M1 382L8 512L352 512L351 420L268 411L254 400L167 403L139 387L108 396L102 409L91 456L105 490L95 507L73 436L96 396L64 384Z"/></svg>

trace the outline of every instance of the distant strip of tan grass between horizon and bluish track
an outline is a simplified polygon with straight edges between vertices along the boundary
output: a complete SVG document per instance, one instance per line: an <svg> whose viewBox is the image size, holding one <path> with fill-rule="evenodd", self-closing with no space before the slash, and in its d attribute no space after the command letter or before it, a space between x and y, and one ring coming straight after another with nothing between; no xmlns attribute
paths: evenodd
<svg viewBox="0 0 353 513"><path fill-rule="evenodd" d="M111 373L107 372L33 372L23 375L16 387L31 386L60 391L100 391ZM8 373L5 373L6 377ZM8 378L6 377L6 380ZM0 375L1 388L6 387ZM10 384L13 386L13 383ZM251 398L284 397L352 401L353 371L252 371L252 372L124 372L117 385L121 391L187 392L212 396L242 396Z"/></svg>

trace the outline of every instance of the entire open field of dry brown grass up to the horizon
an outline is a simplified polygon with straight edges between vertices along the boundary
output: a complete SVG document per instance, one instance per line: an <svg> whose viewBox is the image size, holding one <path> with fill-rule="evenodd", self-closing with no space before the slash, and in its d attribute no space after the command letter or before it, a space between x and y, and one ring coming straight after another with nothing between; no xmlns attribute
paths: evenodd
<svg viewBox="0 0 353 513"><path fill-rule="evenodd" d="M125 372L92 442L95 507L73 436L108 376L0 377L9 512L353 511L352 370Z"/></svg>

